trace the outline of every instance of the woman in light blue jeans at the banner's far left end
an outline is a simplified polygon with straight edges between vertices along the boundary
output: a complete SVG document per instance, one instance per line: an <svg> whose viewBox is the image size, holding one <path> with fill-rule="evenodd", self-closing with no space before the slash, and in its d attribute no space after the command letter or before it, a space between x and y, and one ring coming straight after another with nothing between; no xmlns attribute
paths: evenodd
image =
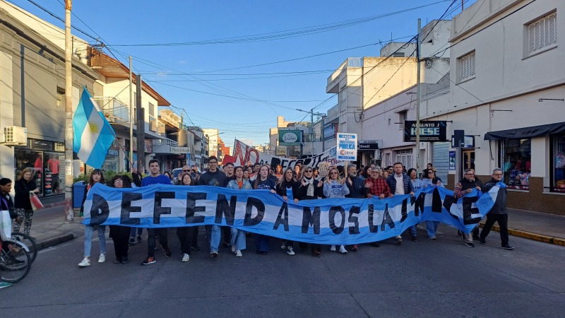
<svg viewBox="0 0 565 318"><path fill-rule="evenodd" d="M81 220L84 220L84 202L86 201L86 194L90 191L95 184L101 183L106 184L104 175L100 169L95 169L90 172L90 177L88 178L88 184L83 197L83 204L81 204ZM90 249L93 246L93 231L95 227L93 225L84 225L84 258L78 263L79 267L90 266ZM96 225L98 230L98 239L100 240L100 257L98 257L98 263L104 263L106 261L106 225Z"/></svg>

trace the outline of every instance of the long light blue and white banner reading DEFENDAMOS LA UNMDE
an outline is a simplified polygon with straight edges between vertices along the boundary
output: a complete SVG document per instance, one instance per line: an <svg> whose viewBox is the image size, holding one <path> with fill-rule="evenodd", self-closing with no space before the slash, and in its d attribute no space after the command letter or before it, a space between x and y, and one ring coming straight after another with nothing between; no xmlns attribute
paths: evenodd
<svg viewBox="0 0 565 318"><path fill-rule="evenodd" d="M424 220L470 232L492 208L499 186L461 199L439 187L389 199L318 199L288 203L268 190L154 184L88 192L84 224L174 228L228 225L248 232L318 244L352 245L400 235Z"/></svg>

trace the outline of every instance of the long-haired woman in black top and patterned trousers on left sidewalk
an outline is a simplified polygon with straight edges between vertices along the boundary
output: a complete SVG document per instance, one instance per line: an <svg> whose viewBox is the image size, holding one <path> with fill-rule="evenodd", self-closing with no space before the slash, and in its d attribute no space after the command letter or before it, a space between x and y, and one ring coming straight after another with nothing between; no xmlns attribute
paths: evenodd
<svg viewBox="0 0 565 318"><path fill-rule="evenodd" d="M31 221L33 218L33 208L30 201L30 192L40 192L40 188L35 184L33 179L33 170L30 167L20 172L20 176L16 180L16 196L14 196L14 209L20 218L13 221L14 232L20 232L20 226L23 221L23 232L30 234Z"/></svg>

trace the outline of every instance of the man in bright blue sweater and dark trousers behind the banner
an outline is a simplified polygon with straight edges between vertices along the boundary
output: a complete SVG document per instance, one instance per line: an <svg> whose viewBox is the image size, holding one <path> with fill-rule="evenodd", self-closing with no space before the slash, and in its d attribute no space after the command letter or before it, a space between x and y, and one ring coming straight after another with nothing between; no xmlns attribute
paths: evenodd
<svg viewBox="0 0 565 318"><path fill-rule="evenodd" d="M149 172L147 177L141 180L141 187L148 187L152 184L172 184L172 180L166 175L161 175L159 160L149 160ZM149 265L155 263L155 237L159 237L159 243L165 257L171 257L172 252L169 249L169 235L167 228L148 228L147 229L147 258L141 262L141 265Z"/></svg>

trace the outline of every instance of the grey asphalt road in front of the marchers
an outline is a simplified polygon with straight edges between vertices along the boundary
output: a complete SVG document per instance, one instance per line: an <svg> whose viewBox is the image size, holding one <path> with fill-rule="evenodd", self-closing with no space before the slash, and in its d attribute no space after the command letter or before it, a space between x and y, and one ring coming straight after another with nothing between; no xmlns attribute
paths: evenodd
<svg viewBox="0 0 565 318"><path fill-rule="evenodd" d="M30 274L0 290L1 317L563 317L565 248L498 233L474 249L441 228L439 240L362 245L346 255L324 247L289 256L271 240L271 252L242 258L220 247L220 257L193 252L180 261L169 232L171 258L141 266L144 241L130 248L129 264L107 261L81 269L82 237L40 251ZM199 238L203 246L204 237Z"/></svg>

